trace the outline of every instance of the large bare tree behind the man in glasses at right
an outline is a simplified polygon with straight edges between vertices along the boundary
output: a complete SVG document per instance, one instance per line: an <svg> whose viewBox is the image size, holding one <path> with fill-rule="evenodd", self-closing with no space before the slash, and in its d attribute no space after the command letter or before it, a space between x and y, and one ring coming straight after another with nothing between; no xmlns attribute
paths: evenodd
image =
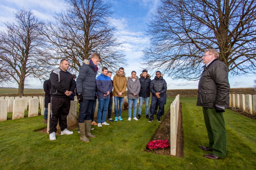
<svg viewBox="0 0 256 170"><path fill-rule="evenodd" d="M196 80L207 48L232 76L256 73L255 0L161 0L148 24L143 63L168 76Z"/></svg>

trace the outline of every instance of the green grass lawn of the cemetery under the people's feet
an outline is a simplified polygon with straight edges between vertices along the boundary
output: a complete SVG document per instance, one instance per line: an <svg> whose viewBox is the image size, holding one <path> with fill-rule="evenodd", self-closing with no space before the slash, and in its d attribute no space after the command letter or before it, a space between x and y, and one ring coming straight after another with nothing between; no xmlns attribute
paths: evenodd
<svg viewBox="0 0 256 170"><path fill-rule="evenodd" d="M165 113L174 98L167 98ZM202 108L196 98L180 98L182 103L184 158L144 152L160 123L147 122L145 106L139 121L113 122L92 130L96 138L80 141L80 134L49 135L43 116L0 122L0 169L255 169L256 121L226 110L227 156L225 159L204 158L198 146L208 144ZM113 119L113 117L112 117Z"/></svg>

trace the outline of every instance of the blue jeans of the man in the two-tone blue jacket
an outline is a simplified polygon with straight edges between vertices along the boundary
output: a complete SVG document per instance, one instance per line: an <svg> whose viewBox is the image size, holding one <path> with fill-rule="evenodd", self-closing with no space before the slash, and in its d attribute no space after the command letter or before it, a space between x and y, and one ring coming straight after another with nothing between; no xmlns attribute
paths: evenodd
<svg viewBox="0 0 256 170"><path fill-rule="evenodd" d="M103 109L102 123L104 123L106 122L109 99L98 99L98 103L99 103L99 107L97 112L97 123L101 123L102 109Z"/></svg>

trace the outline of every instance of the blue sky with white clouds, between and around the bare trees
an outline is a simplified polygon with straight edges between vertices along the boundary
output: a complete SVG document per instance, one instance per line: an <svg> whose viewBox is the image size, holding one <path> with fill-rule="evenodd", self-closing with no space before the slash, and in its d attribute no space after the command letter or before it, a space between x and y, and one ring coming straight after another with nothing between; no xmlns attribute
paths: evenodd
<svg viewBox="0 0 256 170"><path fill-rule="evenodd" d="M128 65L124 66L126 76L131 75L131 71L136 71L137 76L141 73L140 57L143 55L142 49L149 46L149 38L145 35L147 22L151 13L154 13L160 0L110 0L113 4L112 24L117 27L117 37L124 41L124 54L126 54ZM38 18L52 19L52 15L65 10L63 0L1 0L0 4L0 30L4 30L4 22L13 22L13 12L26 8L31 10ZM114 75L112 75L113 78ZM154 78L154 75L151 75ZM197 89L198 81L173 80L165 77L167 89ZM256 76L247 75L239 77L229 77L231 88L253 87ZM29 80L29 88L43 88L43 83L38 80ZM11 87L18 87L12 84Z"/></svg>

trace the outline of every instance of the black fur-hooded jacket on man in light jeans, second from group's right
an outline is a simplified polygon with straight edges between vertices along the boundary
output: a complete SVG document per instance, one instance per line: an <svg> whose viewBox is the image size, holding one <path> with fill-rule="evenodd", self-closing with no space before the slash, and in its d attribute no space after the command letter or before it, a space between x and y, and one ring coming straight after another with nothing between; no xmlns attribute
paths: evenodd
<svg viewBox="0 0 256 170"><path fill-rule="evenodd" d="M150 97L150 75L147 74L146 78L143 77L142 74L140 74L140 93L139 93L139 97Z"/></svg>

